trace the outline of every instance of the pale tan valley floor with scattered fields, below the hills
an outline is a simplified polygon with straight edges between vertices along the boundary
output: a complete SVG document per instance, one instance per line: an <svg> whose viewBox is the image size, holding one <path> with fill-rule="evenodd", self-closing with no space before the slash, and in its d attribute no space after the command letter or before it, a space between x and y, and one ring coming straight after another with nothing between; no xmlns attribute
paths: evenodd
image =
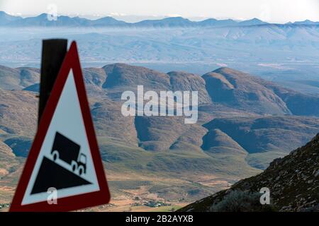
<svg viewBox="0 0 319 226"><path fill-rule="evenodd" d="M21 172L21 169L18 169L18 172ZM191 175L188 178L184 175L177 179L177 177L166 177L164 175L155 177L155 175L150 174L113 171L107 171L106 173L111 189L111 202L103 206L86 208L84 211L174 211L192 201L196 201L198 198L227 189L231 185L230 182L210 174ZM6 206L6 204L11 202L17 182L17 178L11 179L9 176L0 182L0 206L2 207L0 211L9 210L9 206ZM196 184L196 186L191 186L191 184Z"/></svg>

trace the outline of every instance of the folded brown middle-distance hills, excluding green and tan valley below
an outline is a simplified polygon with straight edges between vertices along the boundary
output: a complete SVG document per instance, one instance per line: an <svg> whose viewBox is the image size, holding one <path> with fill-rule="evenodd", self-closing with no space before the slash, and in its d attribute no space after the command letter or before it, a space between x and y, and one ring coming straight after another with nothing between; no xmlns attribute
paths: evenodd
<svg viewBox="0 0 319 226"><path fill-rule="evenodd" d="M1 140L16 155L26 156L35 132L37 99L30 91L38 89L38 69L0 69L1 80L6 81L0 84L0 129L6 133ZM318 97L233 69L220 68L198 76L109 64L83 71L96 133L116 147L181 150L230 160L237 169L242 163L264 169L271 160L303 145L319 131L317 117L286 115L303 108L299 98L318 101ZM138 85L144 85L145 91L198 91L198 123L184 124L182 117L123 117L121 93L135 91ZM302 114L316 115L315 106L303 109Z"/></svg>

